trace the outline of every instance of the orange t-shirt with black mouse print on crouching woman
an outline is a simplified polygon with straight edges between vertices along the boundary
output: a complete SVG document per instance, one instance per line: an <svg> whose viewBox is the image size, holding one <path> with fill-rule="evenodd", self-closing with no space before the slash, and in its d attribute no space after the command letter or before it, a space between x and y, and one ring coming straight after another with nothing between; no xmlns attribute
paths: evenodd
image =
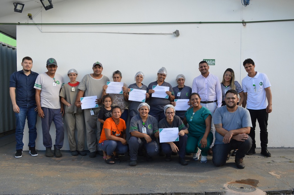
<svg viewBox="0 0 294 195"><path fill-rule="evenodd" d="M126 128L126 122L123 119L120 118L118 125L116 125L112 117L107 118L103 124L103 129L101 131L99 143L103 142L104 140L107 140L104 129L110 129L111 135L121 138L121 135L123 134L123 131L126 130Z"/></svg>

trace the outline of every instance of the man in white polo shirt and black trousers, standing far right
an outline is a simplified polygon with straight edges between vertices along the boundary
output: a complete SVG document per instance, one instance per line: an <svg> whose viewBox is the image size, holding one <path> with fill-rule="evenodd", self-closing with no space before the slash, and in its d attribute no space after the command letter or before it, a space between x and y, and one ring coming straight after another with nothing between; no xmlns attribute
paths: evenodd
<svg viewBox="0 0 294 195"><path fill-rule="evenodd" d="M250 113L252 128L249 136L252 138L252 147L247 152L247 155L255 154L255 126L256 119L260 128L260 146L261 154L265 157L270 157L268 152L268 113L272 112L272 93L270 91L270 81L266 74L254 70L255 64L250 58L243 62L243 66L248 72L248 75L242 80L242 88L245 95L245 103L242 106ZM247 101L246 101L247 99ZM266 101L267 100L267 101Z"/></svg>

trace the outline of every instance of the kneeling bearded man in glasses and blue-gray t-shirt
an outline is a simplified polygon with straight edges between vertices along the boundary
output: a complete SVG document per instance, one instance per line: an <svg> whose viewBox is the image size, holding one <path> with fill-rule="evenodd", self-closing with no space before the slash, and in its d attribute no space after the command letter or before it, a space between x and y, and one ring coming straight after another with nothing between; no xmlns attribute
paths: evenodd
<svg viewBox="0 0 294 195"><path fill-rule="evenodd" d="M237 150L235 163L239 169L244 169L243 158L250 150L252 139L248 135L252 127L249 111L237 105L238 92L228 90L225 94L226 106L216 108L213 115L216 127L216 140L212 147L213 164L217 167L226 163L230 150Z"/></svg>

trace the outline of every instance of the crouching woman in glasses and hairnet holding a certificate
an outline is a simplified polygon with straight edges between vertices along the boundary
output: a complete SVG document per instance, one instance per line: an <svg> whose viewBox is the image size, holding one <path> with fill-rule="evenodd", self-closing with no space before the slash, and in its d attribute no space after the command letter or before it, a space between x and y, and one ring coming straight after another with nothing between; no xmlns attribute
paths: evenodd
<svg viewBox="0 0 294 195"><path fill-rule="evenodd" d="M166 142L161 143L163 152L166 154L166 161L171 161L171 152L178 152L179 163L181 165L188 165L188 162L185 160L185 148L187 143L188 130L184 125L183 121L179 116L175 116L176 110L175 107L171 104L164 106L164 114L166 118L163 118L158 123L158 128L174 128L177 127L179 130L179 140L175 142Z"/></svg>

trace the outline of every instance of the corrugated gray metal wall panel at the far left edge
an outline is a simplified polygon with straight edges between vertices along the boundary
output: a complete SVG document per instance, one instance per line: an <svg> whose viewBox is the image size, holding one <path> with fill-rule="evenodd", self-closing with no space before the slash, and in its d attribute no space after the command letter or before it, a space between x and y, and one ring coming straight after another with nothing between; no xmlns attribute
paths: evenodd
<svg viewBox="0 0 294 195"><path fill-rule="evenodd" d="M16 71L16 49L0 43L0 133L15 129L15 115L9 96L9 77Z"/></svg>

